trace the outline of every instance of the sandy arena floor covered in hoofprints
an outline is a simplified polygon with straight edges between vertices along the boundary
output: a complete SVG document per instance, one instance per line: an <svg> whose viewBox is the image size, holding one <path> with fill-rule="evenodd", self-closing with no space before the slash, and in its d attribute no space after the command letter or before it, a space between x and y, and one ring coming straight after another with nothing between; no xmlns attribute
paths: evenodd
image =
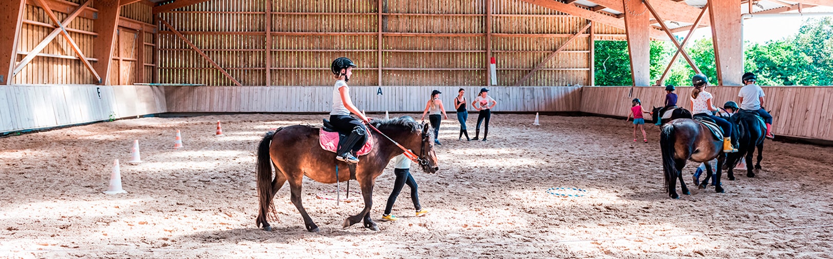
<svg viewBox="0 0 833 259"><path fill-rule="evenodd" d="M322 117L148 117L0 138L0 257L833 257L833 148L767 141L756 178L739 172L724 178L726 193L693 188L671 200L657 127L647 128L650 143L631 142L629 122L601 117L541 117L536 127L531 115L497 114L490 142L457 142L452 118L436 151L441 171L413 170L426 217L411 217L406 187L399 221L342 229L362 202L337 207L316 198L335 185L305 180L303 202L322 231L304 230L286 186L275 231L258 229L257 142L269 128ZM217 120L226 137L213 136ZM175 151L176 129L185 148ZM127 164L134 139L139 165ZM129 193L102 194L116 158ZM389 165L374 219L393 178Z"/></svg>

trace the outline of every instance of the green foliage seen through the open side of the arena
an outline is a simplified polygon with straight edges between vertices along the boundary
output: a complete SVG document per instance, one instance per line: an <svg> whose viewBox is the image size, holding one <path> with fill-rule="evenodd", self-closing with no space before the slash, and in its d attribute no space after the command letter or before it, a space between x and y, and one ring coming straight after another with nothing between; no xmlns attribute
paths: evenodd
<svg viewBox="0 0 833 259"><path fill-rule="evenodd" d="M833 18L811 18L792 37L759 43L746 43L744 71L755 72L759 85L833 85ZM681 39L678 39L681 40ZM711 38L690 42L686 51L717 84L717 69ZM676 47L671 42L651 42L651 82L662 76ZM690 86L695 72L680 55L671 66L665 84ZM740 77L741 75L738 75ZM596 42L596 84L630 86L631 65L627 42Z"/></svg>

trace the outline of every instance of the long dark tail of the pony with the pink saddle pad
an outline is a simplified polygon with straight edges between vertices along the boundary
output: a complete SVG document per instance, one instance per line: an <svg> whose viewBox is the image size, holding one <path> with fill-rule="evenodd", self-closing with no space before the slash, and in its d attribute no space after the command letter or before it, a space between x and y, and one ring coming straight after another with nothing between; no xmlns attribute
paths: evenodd
<svg viewBox="0 0 833 259"><path fill-rule="evenodd" d="M269 156L269 146L277 131L267 132L260 145L257 146L257 197L260 199L257 227L261 227L261 223L266 223L267 216L274 211L272 207L272 157Z"/></svg>

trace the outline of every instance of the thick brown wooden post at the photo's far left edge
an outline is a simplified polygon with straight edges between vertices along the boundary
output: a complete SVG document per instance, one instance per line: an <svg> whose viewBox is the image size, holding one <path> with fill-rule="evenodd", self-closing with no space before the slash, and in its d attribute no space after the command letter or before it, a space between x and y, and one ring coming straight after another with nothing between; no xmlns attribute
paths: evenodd
<svg viewBox="0 0 833 259"><path fill-rule="evenodd" d="M20 37L23 11L26 2L23 0L7 0L0 2L0 24L4 24L0 33L0 85L8 85L14 75L14 62L17 61L17 38Z"/></svg>

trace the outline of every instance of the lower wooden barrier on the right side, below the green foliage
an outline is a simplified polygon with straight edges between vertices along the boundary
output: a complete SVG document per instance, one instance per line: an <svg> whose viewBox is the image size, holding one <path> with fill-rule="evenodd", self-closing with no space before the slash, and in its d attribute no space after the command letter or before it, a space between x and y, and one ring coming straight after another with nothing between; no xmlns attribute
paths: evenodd
<svg viewBox="0 0 833 259"><path fill-rule="evenodd" d="M691 106L688 97L692 87L677 87L678 105ZM764 106L774 119L776 135L833 140L833 87L763 87ZM626 117L631 99L640 98L644 107L659 107L666 92L661 87L582 87L581 112ZM741 87L708 87L714 104L722 107L736 101Z"/></svg>

